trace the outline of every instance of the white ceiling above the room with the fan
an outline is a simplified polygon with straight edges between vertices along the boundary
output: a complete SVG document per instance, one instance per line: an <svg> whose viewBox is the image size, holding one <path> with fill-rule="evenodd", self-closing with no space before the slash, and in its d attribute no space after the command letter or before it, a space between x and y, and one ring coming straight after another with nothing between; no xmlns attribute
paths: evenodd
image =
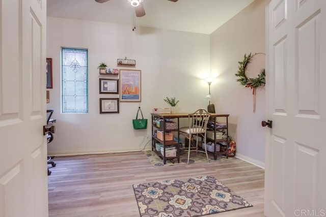
<svg viewBox="0 0 326 217"><path fill-rule="evenodd" d="M144 0L135 25L211 34L254 0ZM47 0L47 16L130 24L134 8L126 0Z"/></svg>

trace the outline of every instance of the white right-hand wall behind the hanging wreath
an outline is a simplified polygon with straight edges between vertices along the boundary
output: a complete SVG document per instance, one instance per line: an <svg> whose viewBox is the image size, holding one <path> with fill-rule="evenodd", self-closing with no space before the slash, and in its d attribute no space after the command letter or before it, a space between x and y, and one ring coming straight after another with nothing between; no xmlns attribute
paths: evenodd
<svg viewBox="0 0 326 217"><path fill-rule="evenodd" d="M257 89L256 113L250 88L236 82L238 61L250 52L265 53L265 6L269 0L257 0L242 10L210 36L211 73L218 76L211 84L212 102L217 113L230 114L230 134L240 158L257 161L262 166L265 152L265 88ZM253 57L247 76L254 78L265 68L265 55Z"/></svg>

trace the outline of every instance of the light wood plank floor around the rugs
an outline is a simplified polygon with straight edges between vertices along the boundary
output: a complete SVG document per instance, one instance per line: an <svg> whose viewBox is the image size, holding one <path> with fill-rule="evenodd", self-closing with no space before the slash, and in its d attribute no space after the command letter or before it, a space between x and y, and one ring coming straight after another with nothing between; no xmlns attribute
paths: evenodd
<svg viewBox="0 0 326 217"><path fill-rule="evenodd" d="M264 216L264 170L236 158L153 167L139 151L58 157L53 161L57 166L50 168L52 174L48 176L49 217L140 216L132 184L202 175L214 176L253 204L208 216Z"/></svg>

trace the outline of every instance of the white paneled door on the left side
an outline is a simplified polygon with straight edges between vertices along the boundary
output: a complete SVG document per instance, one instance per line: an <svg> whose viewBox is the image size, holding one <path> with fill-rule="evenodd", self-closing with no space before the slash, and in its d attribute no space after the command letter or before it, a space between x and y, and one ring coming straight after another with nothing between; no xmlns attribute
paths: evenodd
<svg viewBox="0 0 326 217"><path fill-rule="evenodd" d="M46 217L46 1L0 10L0 217Z"/></svg>

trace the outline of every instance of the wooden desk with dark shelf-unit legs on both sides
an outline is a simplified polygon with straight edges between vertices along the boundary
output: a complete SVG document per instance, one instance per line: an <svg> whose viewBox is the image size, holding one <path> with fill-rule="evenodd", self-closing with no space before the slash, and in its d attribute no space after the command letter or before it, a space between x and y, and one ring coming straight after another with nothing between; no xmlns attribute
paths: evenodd
<svg viewBox="0 0 326 217"><path fill-rule="evenodd" d="M178 163L180 162L180 144L179 144L179 128L180 128L180 125L179 125L179 118L187 118L188 117L188 113L174 113L174 114L154 114L154 113L151 113L151 116L152 116L152 150L155 151L158 156L162 157L162 160L163 160L163 163L166 164L167 160L173 160L175 158L177 158L178 160ZM228 146L229 146L229 132L228 132L228 117L229 117L229 114L216 114L216 113L211 113L210 114L210 118L213 119L214 122L216 122L216 118L218 117L224 117L226 118L226 127L216 127L216 128L207 128L207 130L210 130L210 131L214 131L214 139L210 139L210 138L206 138L206 141L211 141L211 142L214 142L216 144L216 142L226 142L227 145L226 145L226 151L216 151L215 150L215 146L214 146L214 159L216 160L217 159L217 156L218 154L224 154L226 156L226 158L228 158ZM157 127L156 125L153 124L154 122L154 119L155 118L162 118L163 119L163 126L160 126L160 127ZM166 118L176 118L177 119L177 129L173 129L173 130L167 130L166 129ZM160 130L160 131L163 131L163 140L160 140L158 139L155 135L154 135L154 128L156 128L157 130ZM226 130L226 133L227 133L227 138L226 139L216 139L216 130ZM178 133L178 138L177 138L177 141L165 141L165 133L167 132L177 132ZM161 154L160 151L157 151L156 150L156 145L155 143L156 142L159 142L161 144L164 145L164 147L166 146L176 146L176 149L177 149L177 156L176 157L167 157L166 156L166 152L165 152L165 149L164 149L164 153Z"/></svg>

